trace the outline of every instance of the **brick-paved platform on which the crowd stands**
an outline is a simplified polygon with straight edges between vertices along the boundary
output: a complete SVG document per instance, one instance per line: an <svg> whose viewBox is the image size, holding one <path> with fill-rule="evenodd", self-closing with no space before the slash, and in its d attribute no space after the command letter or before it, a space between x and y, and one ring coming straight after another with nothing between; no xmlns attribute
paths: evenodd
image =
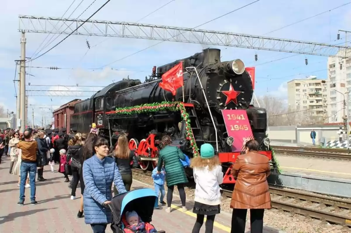
<svg viewBox="0 0 351 233"><path fill-rule="evenodd" d="M90 225L84 223L84 218L78 219L80 189L77 189L77 199L71 200L71 189L64 182L60 173L51 173L49 166L44 172L47 181L37 182L37 205L30 205L30 188L26 188L24 206L18 206L19 187L18 176L9 174L9 158L4 158L0 164L0 232L6 233L90 233ZM58 165L55 165L58 168ZM133 181L133 188L145 187L144 183ZM192 205L187 203L190 211L183 213L174 208L179 206L177 197L173 198L173 211L166 213L164 209L155 210L152 224L158 230L167 233L191 232L196 220L191 212ZM221 213L216 216L214 231L216 233L230 232L231 216ZM204 227L201 233L204 232ZM107 227L108 233L112 233ZM249 230L247 232L250 232ZM265 227L264 233L278 233L279 231Z"/></svg>

